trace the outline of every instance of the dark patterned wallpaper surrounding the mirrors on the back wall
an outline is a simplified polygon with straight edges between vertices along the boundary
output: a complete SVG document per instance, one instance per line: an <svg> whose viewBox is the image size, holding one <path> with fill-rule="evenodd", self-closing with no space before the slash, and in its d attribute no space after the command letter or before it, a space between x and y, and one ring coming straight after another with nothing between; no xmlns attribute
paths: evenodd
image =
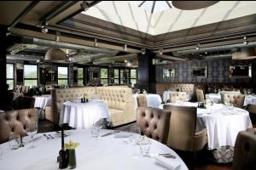
<svg viewBox="0 0 256 170"><path fill-rule="evenodd" d="M253 78L229 77L230 65L249 65L250 60L219 59L207 61L185 61L165 65L156 65L156 82L253 82ZM193 77L193 67L205 67L207 65L207 77ZM252 65L255 68L256 65ZM163 69L175 69L175 77L163 78ZM253 75L256 75L255 69Z"/></svg>

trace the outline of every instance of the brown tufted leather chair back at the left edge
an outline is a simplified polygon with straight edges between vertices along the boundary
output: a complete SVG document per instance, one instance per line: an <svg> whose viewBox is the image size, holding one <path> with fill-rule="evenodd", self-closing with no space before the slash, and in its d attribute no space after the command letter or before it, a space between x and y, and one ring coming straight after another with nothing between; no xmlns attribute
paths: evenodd
<svg viewBox="0 0 256 170"><path fill-rule="evenodd" d="M0 144L9 140L9 135L26 136L26 122L38 122L37 109L6 111L0 114Z"/></svg>

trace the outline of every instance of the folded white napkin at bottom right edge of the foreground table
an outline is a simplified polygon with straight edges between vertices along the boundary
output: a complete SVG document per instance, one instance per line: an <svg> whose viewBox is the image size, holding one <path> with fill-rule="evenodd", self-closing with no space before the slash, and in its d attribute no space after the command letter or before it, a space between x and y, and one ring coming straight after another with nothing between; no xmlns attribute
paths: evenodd
<svg viewBox="0 0 256 170"><path fill-rule="evenodd" d="M181 167L177 159L172 159L172 158L170 159L163 156L155 157L155 162L156 164L162 167L166 167L167 169L170 169L170 170L177 170Z"/></svg>

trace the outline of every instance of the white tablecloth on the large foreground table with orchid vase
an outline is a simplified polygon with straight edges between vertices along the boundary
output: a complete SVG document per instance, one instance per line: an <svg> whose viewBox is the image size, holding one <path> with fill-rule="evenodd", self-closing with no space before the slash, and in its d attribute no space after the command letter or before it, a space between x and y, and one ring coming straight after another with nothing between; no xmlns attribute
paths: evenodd
<svg viewBox="0 0 256 170"><path fill-rule="evenodd" d="M108 132L108 130L101 131L102 134ZM77 170L166 169L155 163L154 158L141 156L139 147L131 144L129 139L117 139L113 138L113 135L93 139L89 130L71 130L66 133L70 133L70 136L65 138L65 142L72 139L80 144L76 149ZM27 149L29 144L26 144L23 148L9 150L8 143L0 144L0 149L4 150L0 159L0 168L3 170L59 169L57 156L61 150L61 137L56 136L56 133L51 134L55 139L46 139L42 134L37 134L41 137L34 141L33 149ZM166 145L155 140L151 140L151 143L150 153L171 153L176 159L170 161L180 164L180 170L188 169L182 159Z"/></svg>

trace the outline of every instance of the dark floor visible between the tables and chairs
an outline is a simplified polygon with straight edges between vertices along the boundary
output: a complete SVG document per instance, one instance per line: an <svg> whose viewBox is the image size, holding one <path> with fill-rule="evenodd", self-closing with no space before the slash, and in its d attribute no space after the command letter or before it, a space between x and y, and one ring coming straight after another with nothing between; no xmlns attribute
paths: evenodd
<svg viewBox="0 0 256 170"><path fill-rule="evenodd" d="M253 127L256 128L256 116L251 116ZM60 127L56 126L54 123L49 122L47 120L39 120L38 123L38 133L46 133L60 130ZM130 123L125 126L115 127L114 129L125 130L127 128L131 128L136 126L136 123ZM177 154L183 159L189 169L194 170L231 170L232 164L219 164L211 161L211 154L207 151L207 149L196 154L191 154L187 152L181 152L179 150L175 150Z"/></svg>

